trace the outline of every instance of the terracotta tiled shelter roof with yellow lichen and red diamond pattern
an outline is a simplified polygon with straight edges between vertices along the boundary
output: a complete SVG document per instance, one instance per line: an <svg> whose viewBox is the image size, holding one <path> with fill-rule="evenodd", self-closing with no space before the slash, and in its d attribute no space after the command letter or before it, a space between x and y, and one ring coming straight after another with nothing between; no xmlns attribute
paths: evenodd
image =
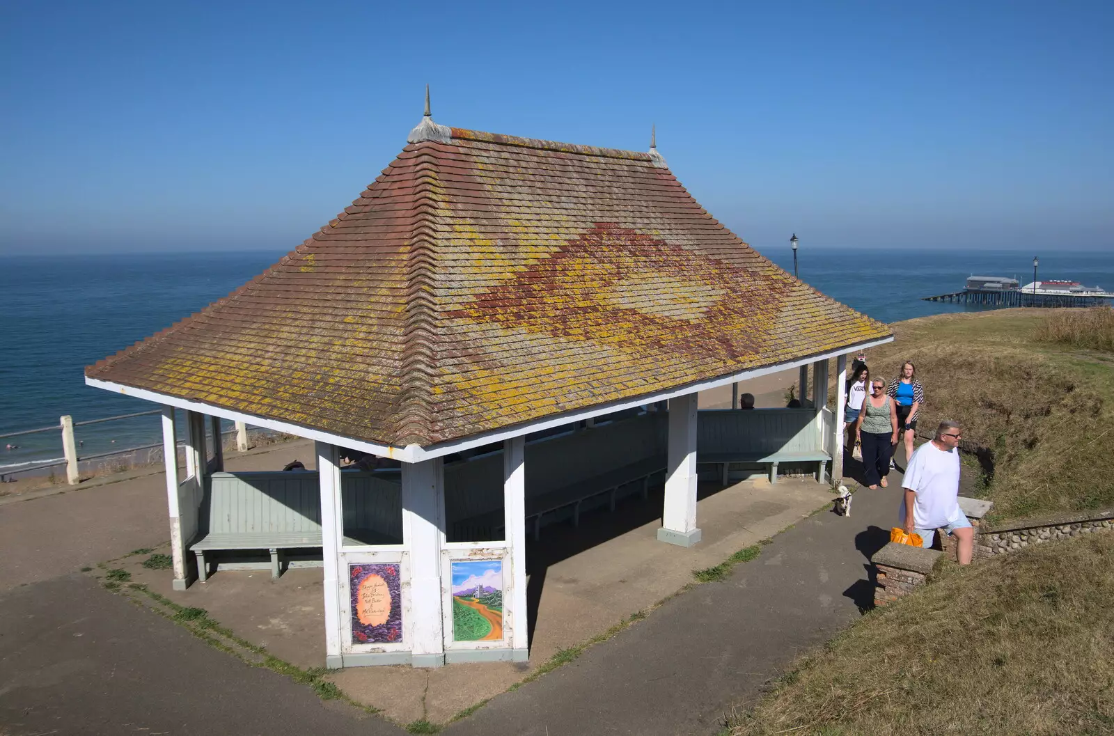
<svg viewBox="0 0 1114 736"><path fill-rule="evenodd" d="M428 446L889 334L751 249L661 158L452 129L86 374Z"/></svg>

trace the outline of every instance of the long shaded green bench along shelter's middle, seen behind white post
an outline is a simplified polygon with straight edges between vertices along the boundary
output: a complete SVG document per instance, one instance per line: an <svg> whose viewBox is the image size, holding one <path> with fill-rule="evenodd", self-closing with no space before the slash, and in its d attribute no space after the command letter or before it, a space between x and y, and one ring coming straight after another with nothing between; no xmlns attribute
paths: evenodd
<svg viewBox="0 0 1114 736"><path fill-rule="evenodd" d="M615 510L622 491L635 485L643 498L655 473L665 471L664 414L644 414L578 429L526 444L526 523L535 540L546 516L568 510L574 526L582 507L607 497ZM446 504L453 538L500 538L502 453L446 467Z"/></svg>

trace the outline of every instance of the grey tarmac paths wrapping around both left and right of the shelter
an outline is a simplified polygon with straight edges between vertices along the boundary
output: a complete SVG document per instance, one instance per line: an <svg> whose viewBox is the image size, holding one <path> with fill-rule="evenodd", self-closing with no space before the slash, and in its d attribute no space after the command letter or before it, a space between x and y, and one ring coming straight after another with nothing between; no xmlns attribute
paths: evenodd
<svg viewBox="0 0 1114 736"><path fill-rule="evenodd" d="M304 450L291 443L229 467L273 469ZM726 581L673 598L444 733L716 733L727 709L869 605L869 557L897 513L900 477L890 480L889 490L858 492L851 519L825 511L797 522ZM0 736L404 733L74 575L165 540L165 493L144 485L0 504Z"/></svg>

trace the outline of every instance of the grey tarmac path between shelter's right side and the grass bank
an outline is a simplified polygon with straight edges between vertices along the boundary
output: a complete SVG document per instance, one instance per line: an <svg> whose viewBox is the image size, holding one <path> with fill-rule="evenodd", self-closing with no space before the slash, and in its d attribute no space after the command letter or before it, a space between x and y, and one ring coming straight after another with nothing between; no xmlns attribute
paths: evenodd
<svg viewBox="0 0 1114 736"><path fill-rule="evenodd" d="M724 582L696 587L576 661L492 699L446 734L715 734L799 654L870 605L869 559L889 541L900 474L862 489L852 517L779 534Z"/></svg>

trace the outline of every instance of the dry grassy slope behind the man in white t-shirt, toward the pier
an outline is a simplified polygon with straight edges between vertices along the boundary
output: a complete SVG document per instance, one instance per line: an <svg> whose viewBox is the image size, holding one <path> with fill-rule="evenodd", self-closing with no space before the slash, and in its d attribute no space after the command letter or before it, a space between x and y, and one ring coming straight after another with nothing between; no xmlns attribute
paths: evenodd
<svg viewBox="0 0 1114 736"><path fill-rule="evenodd" d="M895 342L868 355L887 380L905 360L917 365L921 432L956 419L966 449L993 453L983 494L999 519L1114 506L1114 355L1037 342L1053 312L899 322Z"/></svg>

